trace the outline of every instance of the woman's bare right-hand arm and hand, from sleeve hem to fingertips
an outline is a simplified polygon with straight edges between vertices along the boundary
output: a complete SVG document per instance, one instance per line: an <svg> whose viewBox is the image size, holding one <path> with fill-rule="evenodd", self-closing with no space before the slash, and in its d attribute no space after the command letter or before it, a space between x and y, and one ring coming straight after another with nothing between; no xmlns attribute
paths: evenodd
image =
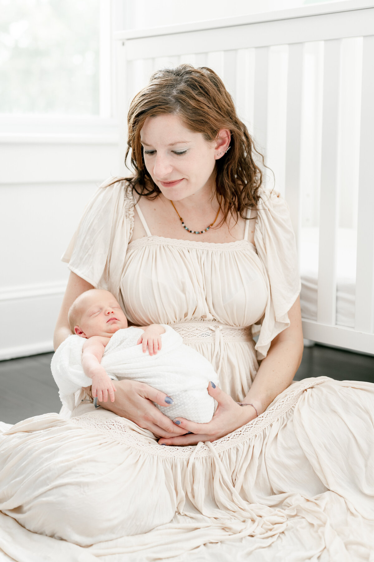
<svg viewBox="0 0 374 562"><path fill-rule="evenodd" d="M299 368L303 355L303 332L301 324L300 300L294 302L288 312L290 325L276 336L265 359L261 361L255 380L243 402L253 404L262 414L285 388L287 388ZM165 445L195 445L199 441L215 441L242 427L256 418L251 406L239 406L218 387L208 386L210 396L218 402L211 422L197 424L183 418L174 420L178 427L191 434L180 437L162 438Z"/></svg>

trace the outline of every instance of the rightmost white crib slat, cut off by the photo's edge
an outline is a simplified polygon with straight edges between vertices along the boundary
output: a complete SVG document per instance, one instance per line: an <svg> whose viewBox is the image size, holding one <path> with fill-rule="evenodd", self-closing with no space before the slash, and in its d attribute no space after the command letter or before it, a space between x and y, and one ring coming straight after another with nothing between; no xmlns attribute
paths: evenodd
<svg viewBox="0 0 374 562"><path fill-rule="evenodd" d="M374 332L374 37L363 38L355 330Z"/></svg>

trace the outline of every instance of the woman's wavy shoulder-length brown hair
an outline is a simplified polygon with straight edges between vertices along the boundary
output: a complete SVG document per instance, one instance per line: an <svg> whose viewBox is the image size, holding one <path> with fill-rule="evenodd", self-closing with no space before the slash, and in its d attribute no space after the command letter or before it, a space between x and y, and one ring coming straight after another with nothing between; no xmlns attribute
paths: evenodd
<svg viewBox="0 0 374 562"><path fill-rule="evenodd" d="M257 209L262 172L253 159L256 150L246 125L238 118L234 102L214 70L189 64L161 69L133 98L128 111L126 161L131 150L135 176L125 178L138 196L157 197L160 189L147 172L140 131L147 117L178 115L184 126L201 133L207 141L216 139L220 129L231 132L230 150L216 160L216 194L227 219L229 213L246 218L246 209Z"/></svg>

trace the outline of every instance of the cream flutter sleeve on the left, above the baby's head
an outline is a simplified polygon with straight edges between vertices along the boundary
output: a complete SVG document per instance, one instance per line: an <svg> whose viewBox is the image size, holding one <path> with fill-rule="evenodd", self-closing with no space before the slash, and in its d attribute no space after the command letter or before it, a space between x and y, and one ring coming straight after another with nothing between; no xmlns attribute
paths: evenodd
<svg viewBox="0 0 374 562"><path fill-rule="evenodd" d="M107 289L118 299L134 200L124 180L108 183L101 184L87 203L62 261L95 288Z"/></svg>

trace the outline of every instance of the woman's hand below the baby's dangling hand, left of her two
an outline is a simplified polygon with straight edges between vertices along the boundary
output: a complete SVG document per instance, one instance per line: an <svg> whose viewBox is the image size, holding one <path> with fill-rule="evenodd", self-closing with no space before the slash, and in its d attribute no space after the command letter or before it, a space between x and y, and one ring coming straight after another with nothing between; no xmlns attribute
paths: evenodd
<svg viewBox="0 0 374 562"><path fill-rule="evenodd" d="M135 422L139 427L149 429L158 437L174 437L188 431L178 427L153 404L173 404L172 399L164 392L137 380L118 380L116 388L115 402L98 401L98 404L122 418Z"/></svg>

